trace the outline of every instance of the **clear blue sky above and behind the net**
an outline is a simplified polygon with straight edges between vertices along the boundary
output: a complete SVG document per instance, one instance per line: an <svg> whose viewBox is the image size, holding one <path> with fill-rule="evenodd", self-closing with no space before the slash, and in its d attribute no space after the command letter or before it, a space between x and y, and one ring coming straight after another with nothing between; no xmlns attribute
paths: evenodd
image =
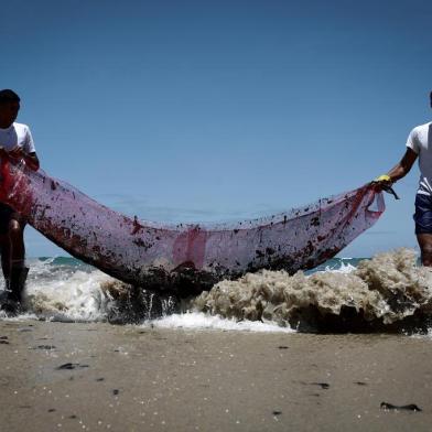
<svg viewBox="0 0 432 432"><path fill-rule="evenodd" d="M159 220L267 215L390 169L430 121L430 1L3 2L42 166ZM342 256L414 247L418 169ZM31 228L29 256L62 255Z"/></svg>

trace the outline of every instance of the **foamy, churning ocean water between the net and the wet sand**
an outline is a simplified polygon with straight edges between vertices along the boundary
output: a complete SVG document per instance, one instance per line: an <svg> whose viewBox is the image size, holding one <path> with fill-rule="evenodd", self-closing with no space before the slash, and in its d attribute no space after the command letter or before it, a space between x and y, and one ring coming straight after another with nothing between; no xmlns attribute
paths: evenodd
<svg viewBox="0 0 432 432"><path fill-rule="evenodd" d="M428 333L432 326L432 271L419 267L409 249L335 258L294 276L248 273L182 301L127 285L73 258L28 263L20 320L251 332ZM0 318L17 320L3 312Z"/></svg>

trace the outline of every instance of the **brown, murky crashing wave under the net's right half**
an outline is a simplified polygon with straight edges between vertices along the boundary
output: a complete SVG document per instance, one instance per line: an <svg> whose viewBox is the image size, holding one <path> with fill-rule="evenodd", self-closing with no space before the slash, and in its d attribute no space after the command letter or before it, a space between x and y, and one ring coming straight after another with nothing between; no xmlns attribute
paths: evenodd
<svg viewBox="0 0 432 432"><path fill-rule="evenodd" d="M309 277L301 271L289 276L263 270L222 281L190 306L212 315L306 331L422 326L432 313L432 272L415 261L413 250L399 249L363 260L357 269Z"/></svg>

